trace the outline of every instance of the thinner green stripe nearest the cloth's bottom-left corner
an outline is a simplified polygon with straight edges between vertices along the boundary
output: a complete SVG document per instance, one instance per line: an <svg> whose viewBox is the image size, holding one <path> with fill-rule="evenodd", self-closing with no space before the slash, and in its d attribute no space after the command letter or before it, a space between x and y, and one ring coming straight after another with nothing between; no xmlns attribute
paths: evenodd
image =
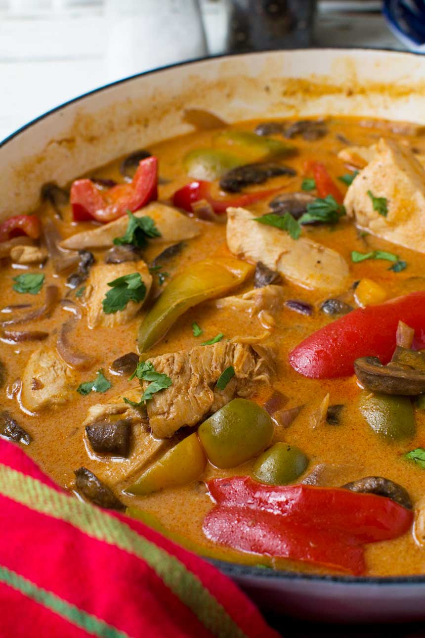
<svg viewBox="0 0 425 638"><path fill-rule="evenodd" d="M130 638L125 632L115 629L115 627L108 625L103 620L96 618L96 616L92 616L92 614L87 614L87 612L69 604L51 591L43 590L16 572L3 567L3 565L0 565L0 582L6 583L14 590L20 591L24 596L32 598L35 602L55 612L58 616L62 616L62 618L66 618L77 627L83 628L88 634L93 634L99 638Z"/></svg>

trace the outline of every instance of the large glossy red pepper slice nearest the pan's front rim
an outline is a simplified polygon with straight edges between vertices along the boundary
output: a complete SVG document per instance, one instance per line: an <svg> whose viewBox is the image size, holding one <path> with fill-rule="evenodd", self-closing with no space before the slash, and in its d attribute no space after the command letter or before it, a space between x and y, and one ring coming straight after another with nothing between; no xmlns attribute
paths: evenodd
<svg viewBox="0 0 425 638"><path fill-rule="evenodd" d="M389 498L307 485L269 486L250 477L208 483L216 501L208 538L240 551L364 572L362 543L396 538L413 513Z"/></svg>

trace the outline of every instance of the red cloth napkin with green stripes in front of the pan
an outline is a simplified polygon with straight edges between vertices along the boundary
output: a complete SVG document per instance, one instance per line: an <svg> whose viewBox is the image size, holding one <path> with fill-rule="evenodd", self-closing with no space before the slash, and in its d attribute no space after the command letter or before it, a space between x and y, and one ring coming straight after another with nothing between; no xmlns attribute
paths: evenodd
<svg viewBox="0 0 425 638"><path fill-rule="evenodd" d="M0 638L277 638L212 565L0 440Z"/></svg>

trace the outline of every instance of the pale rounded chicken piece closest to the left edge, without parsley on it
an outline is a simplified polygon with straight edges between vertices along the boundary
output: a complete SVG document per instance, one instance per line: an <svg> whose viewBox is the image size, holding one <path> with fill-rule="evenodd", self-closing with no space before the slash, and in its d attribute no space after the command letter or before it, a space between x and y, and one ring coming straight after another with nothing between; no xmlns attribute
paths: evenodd
<svg viewBox="0 0 425 638"><path fill-rule="evenodd" d="M75 373L56 350L42 346L32 353L22 375L21 401L26 410L37 412L66 403L75 389Z"/></svg>

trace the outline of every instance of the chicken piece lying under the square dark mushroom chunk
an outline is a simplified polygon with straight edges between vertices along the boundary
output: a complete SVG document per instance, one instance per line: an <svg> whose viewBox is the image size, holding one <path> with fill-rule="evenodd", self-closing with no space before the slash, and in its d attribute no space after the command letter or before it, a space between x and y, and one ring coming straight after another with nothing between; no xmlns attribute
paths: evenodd
<svg viewBox="0 0 425 638"><path fill-rule="evenodd" d="M140 385L127 390L127 399L137 403L140 401ZM144 406L134 407L123 401L123 396L112 397L108 403L97 403L89 408L87 418L82 424L90 426L99 421L126 419L131 423L131 447L126 459L115 461L108 456L95 456L90 468L99 479L107 485L116 486L129 479L134 473L142 471L145 466L160 454L166 452L175 441L156 439L148 431L148 420Z"/></svg>

